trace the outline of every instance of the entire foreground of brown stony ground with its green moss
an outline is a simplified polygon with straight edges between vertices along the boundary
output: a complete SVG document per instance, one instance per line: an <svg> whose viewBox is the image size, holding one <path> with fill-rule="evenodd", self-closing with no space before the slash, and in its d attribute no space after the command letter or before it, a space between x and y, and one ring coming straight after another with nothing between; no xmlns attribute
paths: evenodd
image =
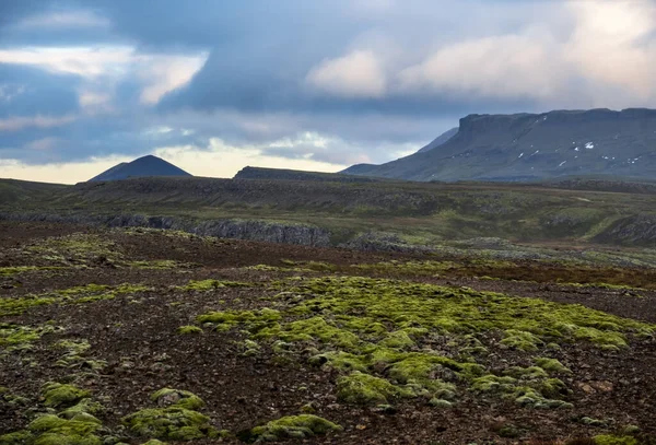
<svg viewBox="0 0 656 445"><path fill-rule="evenodd" d="M655 443L653 268L459 248L0 222L0 444Z"/></svg>

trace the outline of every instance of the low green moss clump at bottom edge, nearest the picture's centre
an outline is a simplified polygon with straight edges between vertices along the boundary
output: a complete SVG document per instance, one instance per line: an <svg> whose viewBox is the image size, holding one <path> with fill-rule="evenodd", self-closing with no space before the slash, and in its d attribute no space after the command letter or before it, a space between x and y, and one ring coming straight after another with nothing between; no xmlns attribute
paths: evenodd
<svg viewBox="0 0 656 445"><path fill-rule="evenodd" d="M281 438L304 438L342 430L340 425L317 415L289 415L254 428L250 431L250 440L276 442Z"/></svg>

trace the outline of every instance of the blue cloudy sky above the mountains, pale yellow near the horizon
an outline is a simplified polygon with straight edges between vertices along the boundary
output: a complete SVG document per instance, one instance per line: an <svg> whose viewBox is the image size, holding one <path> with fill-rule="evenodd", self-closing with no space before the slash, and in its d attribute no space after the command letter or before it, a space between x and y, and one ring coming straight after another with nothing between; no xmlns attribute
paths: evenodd
<svg viewBox="0 0 656 445"><path fill-rule="evenodd" d="M337 172L468 114L654 107L653 0L3 0L0 177Z"/></svg>

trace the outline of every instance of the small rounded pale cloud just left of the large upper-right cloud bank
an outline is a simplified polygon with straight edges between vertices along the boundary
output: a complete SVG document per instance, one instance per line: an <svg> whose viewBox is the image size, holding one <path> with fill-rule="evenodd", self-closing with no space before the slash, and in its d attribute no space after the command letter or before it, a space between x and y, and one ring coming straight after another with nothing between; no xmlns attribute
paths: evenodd
<svg viewBox="0 0 656 445"><path fill-rule="evenodd" d="M386 87L382 63L371 50L354 50L324 60L309 71L306 82L343 97L380 97Z"/></svg>

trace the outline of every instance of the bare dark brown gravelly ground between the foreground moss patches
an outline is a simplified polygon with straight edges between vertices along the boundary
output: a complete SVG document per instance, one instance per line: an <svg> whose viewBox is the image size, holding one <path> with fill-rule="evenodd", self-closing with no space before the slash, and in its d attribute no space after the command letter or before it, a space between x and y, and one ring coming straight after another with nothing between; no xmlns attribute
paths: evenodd
<svg viewBox="0 0 656 445"><path fill-rule="evenodd" d="M55 256L59 247L48 247L50 250L39 247L48 246L48 239L74 234L106 241L107 254L84 256L73 249ZM630 336L629 348L619 350L576 343L553 352L552 356L572 371L562 377L570 388L565 400L572 403L571 409L522 407L514 400L458 388L458 402L452 409L438 410L417 399L399 400L394 409L345 403L336 396L338 370L314 367L303 361L281 363L270 348L245 355L239 329L204 329L200 335L176 332L180 326L195 325L196 317L209 311L263 307L266 298L279 292L269 285L278 280L342 274L379 277L380 272L365 269L353 271L351 265L422 258L440 260L434 256L172 236L157 231L0 223L0 268L36 267L0 274L2 301L90 283L143 286L113 298L35 305L20 314L0 313L2 324L61 327L44 333L31 348L2 353L4 347L0 343L0 386L24 398L21 403L0 398L0 434L25 429L36 413L44 412L42 386L46 382L73 379L77 386L104 401L106 409L97 417L107 431L124 431L120 426L124 417L151 406L150 395L169 387L199 396L206 402L202 412L212 424L235 434L270 420L298 414L307 403L312 403L316 415L343 428L325 436L292 440L307 444L550 444L616 434L626 425L640 428L643 433L640 441L656 435L656 340L653 336ZM163 267L157 261L174 262ZM332 267L325 271L285 269L291 261L300 265L315 261ZM147 267L149 264L160 266ZM257 265L271 268L253 268ZM531 267L538 268L518 264L517 270L522 270L518 273L525 276ZM516 297L578 304L656 324L655 291L567 285L555 281L561 268L554 266L552 270L553 281L546 278L541 282L529 282L519 276L519 281L485 280L479 278L483 273L464 276L461 272L452 276L445 272L438 277L399 272L393 278L409 283L467 286ZM541 270L540 277L546 277L544 273ZM641 273L653 271L631 271L626 277ZM179 289L190 280L207 279L250 285L209 292ZM61 351L54 347L61 340L86 340L91 348L83 355L103 361L104 365L98 370L90 370L85 364L62 367L58 364ZM495 354L489 359L491 363L526 361L520 352ZM514 432L506 433L509 431L506 426L512 426ZM141 444L148 437L125 432L124 441L128 443ZM242 442L233 436L192 443Z"/></svg>

